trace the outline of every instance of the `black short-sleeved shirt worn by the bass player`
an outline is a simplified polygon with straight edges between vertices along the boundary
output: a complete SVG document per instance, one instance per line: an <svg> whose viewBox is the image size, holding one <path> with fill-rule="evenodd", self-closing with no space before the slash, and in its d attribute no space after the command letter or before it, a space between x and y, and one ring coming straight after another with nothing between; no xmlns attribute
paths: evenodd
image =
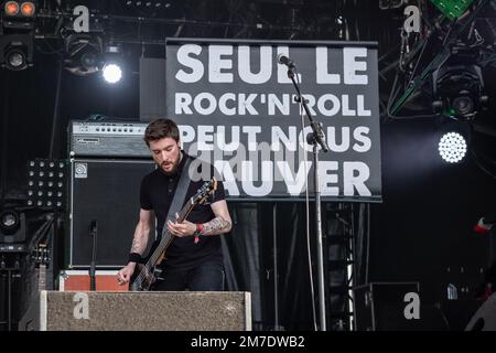
<svg viewBox="0 0 496 353"><path fill-rule="evenodd" d="M153 210L155 212L157 234L159 236L162 234L165 217L169 214L169 208L171 207L172 199L174 197L177 183L181 179L186 158L191 158L186 153L182 153L183 158L177 167L177 172L174 175L168 175L161 168L158 168L145 175L141 181L140 205L142 210ZM193 165L193 162L191 165ZM214 168L212 164L201 163L200 165L198 171L201 171L202 167L208 165L211 168L211 178L214 175ZM209 180L191 181L185 201L190 200L198 189L203 186L205 181ZM217 190L215 193L211 195L204 204L195 205L186 220L195 224L212 221L215 218L215 214L212 211L211 204L225 199L224 185L217 179ZM219 236L201 236L200 242L196 244L194 240L194 236L175 237L165 253L166 260L163 263L163 267L169 270L183 270L206 260L219 264L223 263Z"/></svg>

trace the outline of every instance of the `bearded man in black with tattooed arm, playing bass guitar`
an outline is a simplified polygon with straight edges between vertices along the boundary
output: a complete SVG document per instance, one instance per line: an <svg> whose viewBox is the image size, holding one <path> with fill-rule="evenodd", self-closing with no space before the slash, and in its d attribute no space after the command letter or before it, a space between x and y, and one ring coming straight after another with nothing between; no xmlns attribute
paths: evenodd
<svg viewBox="0 0 496 353"><path fill-rule="evenodd" d="M177 126L170 119L152 121L147 127L143 139L159 168L141 181L139 222L134 231L128 265L118 272L119 282L121 285L130 282L131 276L139 268L137 264L143 263L143 255L152 229L154 231L157 218L159 237L169 232L172 239L164 259L158 266L162 270L161 275L153 280L150 289L224 290L219 235L230 231L231 220L223 183L217 181L215 192L206 202L195 205L185 220L166 221L181 175L188 173L184 167L193 165L191 161L191 164L186 163L186 160L194 159L181 150ZM202 163L201 165L201 168L211 168L211 175L214 175L214 168L211 164ZM185 201L202 188L205 180L187 182L190 185ZM166 229L163 229L164 226Z"/></svg>

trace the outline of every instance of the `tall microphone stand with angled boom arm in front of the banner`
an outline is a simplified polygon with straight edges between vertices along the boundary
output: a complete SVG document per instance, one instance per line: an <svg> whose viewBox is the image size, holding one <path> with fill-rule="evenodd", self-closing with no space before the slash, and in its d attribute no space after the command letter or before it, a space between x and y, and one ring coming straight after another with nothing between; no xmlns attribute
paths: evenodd
<svg viewBox="0 0 496 353"><path fill-rule="evenodd" d="M316 240L317 240L317 277L319 277L319 314L321 322L321 331L326 331L325 320L325 287L324 287L324 260L323 260L323 244L322 244L322 217L321 217L321 183L319 176L319 146L321 146L324 152L328 152L327 143L324 140L324 131L322 129L322 122L317 122L312 119L312 115L306 105L305 99L302 97L300 87L294 79L294 65L288 65L288 77L292 81L294 88L296 89L295 100L303 106L306 117L310 120L312 127L311 133L306 136L309 145L313 146L313 163L314 168L314 182L315 182L315 226L316 226Z"/></svg>

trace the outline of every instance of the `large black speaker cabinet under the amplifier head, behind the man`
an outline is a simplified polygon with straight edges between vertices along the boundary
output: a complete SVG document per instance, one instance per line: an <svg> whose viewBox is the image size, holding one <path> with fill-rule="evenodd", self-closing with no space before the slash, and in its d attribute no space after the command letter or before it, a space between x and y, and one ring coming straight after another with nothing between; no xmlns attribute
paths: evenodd
<svg viewBox="0 0 496 353"><path fill-rule="evenodd" d="M91 261L96 221L96 266L125 265L139 220L141 179L155 169L150 160L74 159L71 162L68 268Z"/></svg>

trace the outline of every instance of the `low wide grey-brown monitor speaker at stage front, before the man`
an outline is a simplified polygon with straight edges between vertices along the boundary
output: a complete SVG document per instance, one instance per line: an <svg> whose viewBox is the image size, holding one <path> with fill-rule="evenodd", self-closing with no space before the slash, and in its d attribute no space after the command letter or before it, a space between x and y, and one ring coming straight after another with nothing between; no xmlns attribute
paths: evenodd
<svg viewBox="0 0 496 353"><path fill-rule="evenodd" d="M249 292L41 291L20 331L250 331Z"/></svg>

